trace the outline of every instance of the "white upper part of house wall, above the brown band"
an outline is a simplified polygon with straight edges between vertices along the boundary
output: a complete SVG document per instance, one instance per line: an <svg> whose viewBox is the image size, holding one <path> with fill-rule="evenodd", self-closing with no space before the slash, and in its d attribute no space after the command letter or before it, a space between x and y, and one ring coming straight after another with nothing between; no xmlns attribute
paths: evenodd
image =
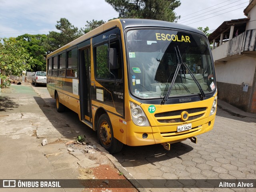
<svg viewBox="0 0 256 192"><path fill-rule="evenodd" d="M243 57L231 60L226 63L216 63L217 82L242 85L242 83L252 86L256 68L256 58Z"/></svg>

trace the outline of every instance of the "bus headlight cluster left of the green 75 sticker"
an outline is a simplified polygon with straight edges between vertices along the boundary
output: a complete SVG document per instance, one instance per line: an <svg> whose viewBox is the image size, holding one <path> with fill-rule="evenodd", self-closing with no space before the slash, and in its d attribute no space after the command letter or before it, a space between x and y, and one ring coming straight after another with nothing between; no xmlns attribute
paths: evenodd
<svg viewBox="0 0 256 192"><path fill-rule="evenodd" d="M138 126L150 126L146 114L140 106L130 102L130 110L132 114L132 122Z"/></svg>

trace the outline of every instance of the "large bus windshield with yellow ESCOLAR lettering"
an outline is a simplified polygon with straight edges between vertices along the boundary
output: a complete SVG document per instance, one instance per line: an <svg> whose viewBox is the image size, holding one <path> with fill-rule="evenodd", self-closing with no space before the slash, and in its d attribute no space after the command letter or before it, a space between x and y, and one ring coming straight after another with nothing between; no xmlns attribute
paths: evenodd
<svg viewBox="0 0 256 192"><path fill-rule="evenodd" d="M214 91L214 66L204 36L174 30L140 29L129 30L126 41L129 86L134 96L163 98L173 79L170 97L200 94L199 87L205 94ZM179 62L182 65L174 78Z"/></svg>

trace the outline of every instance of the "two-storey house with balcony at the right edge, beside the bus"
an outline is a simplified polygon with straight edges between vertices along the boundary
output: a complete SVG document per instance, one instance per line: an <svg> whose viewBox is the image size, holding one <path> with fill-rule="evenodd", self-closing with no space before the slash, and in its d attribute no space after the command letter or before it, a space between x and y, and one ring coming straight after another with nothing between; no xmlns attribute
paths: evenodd
<svg viewBox="0 0 256 192"><path fill-rule="evenodd" d="M218 98L256 113L256 0L249 1L244 15L223 22L208 40L213 43Z"/></svg>

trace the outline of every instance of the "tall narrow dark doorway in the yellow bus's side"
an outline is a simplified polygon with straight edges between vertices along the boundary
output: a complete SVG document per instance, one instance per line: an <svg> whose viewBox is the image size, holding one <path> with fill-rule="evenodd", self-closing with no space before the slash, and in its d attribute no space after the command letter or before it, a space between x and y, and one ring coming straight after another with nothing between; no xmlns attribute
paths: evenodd
<svg viewBox="0 0 256 192"><path fill-rule="evenodd" d="M90 91L90 46L79 50L80 53L80 110L81 120L92 124L92 104Z"/></svg>

